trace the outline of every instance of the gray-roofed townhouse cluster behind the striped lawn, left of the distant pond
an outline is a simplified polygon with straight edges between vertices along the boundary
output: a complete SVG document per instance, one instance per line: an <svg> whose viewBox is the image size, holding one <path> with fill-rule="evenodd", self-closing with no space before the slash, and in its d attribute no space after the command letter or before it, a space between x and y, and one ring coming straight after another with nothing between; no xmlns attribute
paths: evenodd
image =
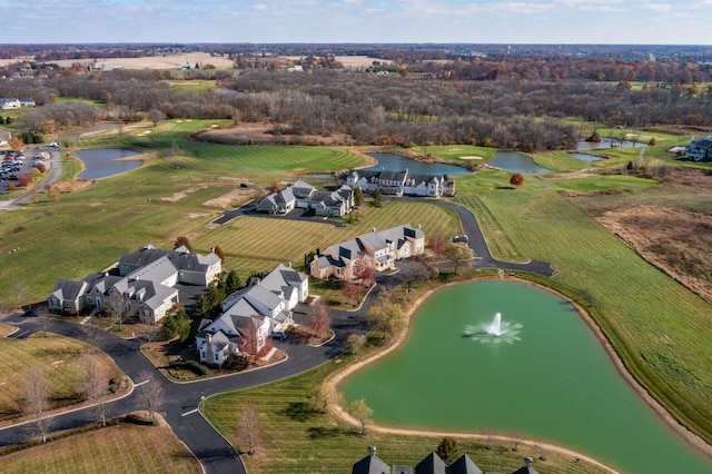
<svg viewBox="0 0 712 474"><path fill-rule="evenodd" d="M268 214L287 214L293 209L314 209L317 216L344 217L354 208L354 190L342 186L320 191L300 179L285 189L265 196L256 209Z"/></svg>

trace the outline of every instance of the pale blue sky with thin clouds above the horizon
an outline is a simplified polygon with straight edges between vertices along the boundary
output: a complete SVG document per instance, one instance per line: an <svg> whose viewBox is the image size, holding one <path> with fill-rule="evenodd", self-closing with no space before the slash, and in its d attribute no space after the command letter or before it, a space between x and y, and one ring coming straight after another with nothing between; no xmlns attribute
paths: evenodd
<svg viewBox="0 0 712 474"><path fill-rule="evenodd" d="M712 0L0 0L6 43L712 45Z"/></svg>

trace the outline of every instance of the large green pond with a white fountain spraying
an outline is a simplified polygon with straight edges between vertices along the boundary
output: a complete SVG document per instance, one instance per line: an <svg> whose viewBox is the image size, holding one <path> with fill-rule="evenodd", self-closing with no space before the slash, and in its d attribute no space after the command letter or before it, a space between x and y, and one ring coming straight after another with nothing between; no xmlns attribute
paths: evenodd
<svg viewBox="0 0 712 474"><path fill-rule="evenodd" d="M497 313L515 337L474 330ZM383 425L487 427L571 447L625 473L712 473L623 381L573 307L524 284L443 288L417 310L402 347L339 388L347 402L366 398Z"/></svg>

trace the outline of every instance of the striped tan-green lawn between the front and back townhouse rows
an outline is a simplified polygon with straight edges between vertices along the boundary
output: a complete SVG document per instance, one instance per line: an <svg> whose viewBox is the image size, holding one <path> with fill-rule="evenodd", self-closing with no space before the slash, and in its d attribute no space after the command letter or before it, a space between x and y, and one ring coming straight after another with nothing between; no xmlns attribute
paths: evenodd
<svg viewBox="0 0 712 474"><path fill-rule="evenodd" d="M286 261L303 268L305 254L369 233L374 227L384 230L400 224L419 224L426 235L435 229L456 235L462 229L454 211L425 203L394 199L386 200L382 207L366 204L360 214L357 223L349 223L346 227L318 220L240 217L205 233L195 240L194 247L199 251L208 251L210 247L220 246L225 253L224 266L246 278L255 271L268 271ZM348 223L348 218L344 221Z"/></svg>

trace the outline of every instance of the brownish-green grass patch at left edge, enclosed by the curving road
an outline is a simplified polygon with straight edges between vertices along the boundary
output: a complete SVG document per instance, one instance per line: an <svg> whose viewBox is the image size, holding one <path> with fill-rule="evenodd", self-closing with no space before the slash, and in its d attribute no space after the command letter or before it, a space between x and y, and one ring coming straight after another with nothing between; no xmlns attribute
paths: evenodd
<svg viewBox="0 0 712 474"><path fill-rule="evenodd" d="M23 413L24 374L38 367L49 378L50 408L60 408L85 399L87 377L85 357L97 357L99 368L118 377L120 369L103 353L87 344L56 334L36 334L27 339L0 338L0 422L17 418Z"/></svg>

